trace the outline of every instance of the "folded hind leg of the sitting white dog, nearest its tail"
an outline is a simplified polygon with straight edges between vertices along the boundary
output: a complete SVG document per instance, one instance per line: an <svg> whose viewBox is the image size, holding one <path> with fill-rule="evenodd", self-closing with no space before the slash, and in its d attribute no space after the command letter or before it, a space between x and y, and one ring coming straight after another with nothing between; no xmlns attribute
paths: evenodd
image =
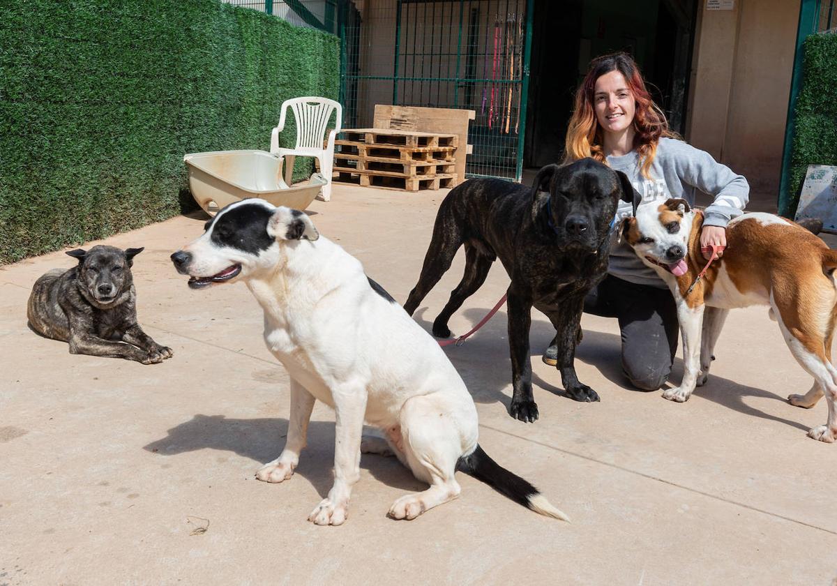
<svg viewBox="0 0 837 586"><path fill-rule="evenodd" d="M431 393L408 399L401 409L407 465L419 481L428 482L430 487L393 502L388 513L393 519L414 519L460 495L462 489L454 473L462 455L463 442L457 426L461 418L452 415L445 402L439 393Z"/></svg>

